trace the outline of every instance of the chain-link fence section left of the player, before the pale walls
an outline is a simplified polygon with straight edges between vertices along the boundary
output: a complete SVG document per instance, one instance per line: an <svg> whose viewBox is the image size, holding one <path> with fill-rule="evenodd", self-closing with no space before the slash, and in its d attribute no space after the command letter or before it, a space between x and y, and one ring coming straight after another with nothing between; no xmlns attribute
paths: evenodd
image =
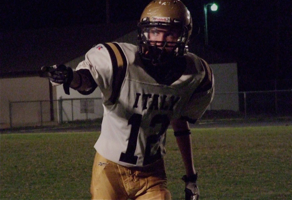
<svg viewBox="0 0 292 200"><path fill-rule="evenodd" d="M44 126L102 118L101 98L9 102L10 127Z"/></svg>

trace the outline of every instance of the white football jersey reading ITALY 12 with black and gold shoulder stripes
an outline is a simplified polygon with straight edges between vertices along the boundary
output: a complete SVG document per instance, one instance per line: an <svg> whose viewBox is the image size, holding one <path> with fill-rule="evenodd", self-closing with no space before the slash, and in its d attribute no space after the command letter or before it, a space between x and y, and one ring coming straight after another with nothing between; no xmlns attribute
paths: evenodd
<svg viewBox="0 0 292 200"><path fill-rule="evenodd" d="M195 122L201 117L214 87L196 89L209 66L191 53L186 61L183 75L167 86L144 71L135 45L105 43L86 53L76 70L88 69L102 92L104 114L94 146L100 155L127 167L148 165L165 154L166 129L172 119Z"/></svg>

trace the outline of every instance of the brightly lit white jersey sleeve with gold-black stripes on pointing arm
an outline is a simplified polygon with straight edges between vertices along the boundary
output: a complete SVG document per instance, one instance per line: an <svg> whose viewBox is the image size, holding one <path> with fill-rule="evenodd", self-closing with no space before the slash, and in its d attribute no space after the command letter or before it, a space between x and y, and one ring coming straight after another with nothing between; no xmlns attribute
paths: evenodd
<svg viewBox="0 0 292 200"><path fill-rule="evenodd" d="M87 69L105 98L114 103L119 96L126 68L127 59L120 45L104 43L90 49L76 71Z"/></svg>

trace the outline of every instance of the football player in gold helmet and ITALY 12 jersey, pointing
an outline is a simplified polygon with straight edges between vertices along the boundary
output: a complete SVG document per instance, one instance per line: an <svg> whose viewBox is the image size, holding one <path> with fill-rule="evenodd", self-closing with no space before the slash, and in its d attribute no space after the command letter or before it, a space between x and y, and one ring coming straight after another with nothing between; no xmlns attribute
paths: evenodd
<svg viewBox="0 0 292 200"><path fill-rule="evenodd" d="M171 199L163 156L171 124L183 158L187 199L198 199L189 123L214 93L212 70L187 51L192 18L179 0L151 1L138 23L138 45L104 43L76 71L59 65L53 85L102 92L101 134L94 145L92 199Z"/></svg>

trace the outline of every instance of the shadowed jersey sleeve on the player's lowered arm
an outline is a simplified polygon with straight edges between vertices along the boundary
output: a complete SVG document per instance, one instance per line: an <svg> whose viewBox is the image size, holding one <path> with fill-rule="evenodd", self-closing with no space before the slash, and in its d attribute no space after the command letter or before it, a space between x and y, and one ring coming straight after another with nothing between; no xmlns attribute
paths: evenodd
<svg viewBox="0 0 292 200"><path fill-rule="evenodd" d="M186 119L190 123L195 123L207 109L214 96L214 77L212 69L206 61L201 60L204 67L205 76L199 86L192 93L189 101L184 107L181 119Z"/></svg>

